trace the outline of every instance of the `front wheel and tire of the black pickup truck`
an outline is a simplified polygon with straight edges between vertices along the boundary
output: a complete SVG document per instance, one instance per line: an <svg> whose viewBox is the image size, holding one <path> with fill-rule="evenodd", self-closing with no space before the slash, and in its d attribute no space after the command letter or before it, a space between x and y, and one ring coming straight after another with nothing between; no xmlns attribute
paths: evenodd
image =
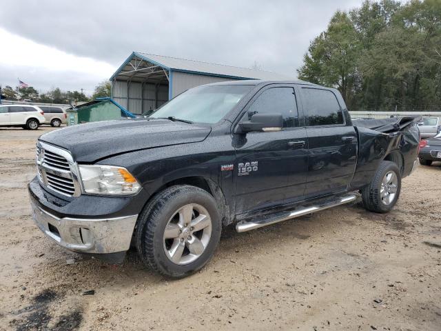
<svg viewBox="0 0 441 331"><path fill-rule="evenodd" d="M221 229L211 194L190 185L172 186L156 194L141 212L136 248L152 270L167 277L186 277L212 258Z"/></svg>

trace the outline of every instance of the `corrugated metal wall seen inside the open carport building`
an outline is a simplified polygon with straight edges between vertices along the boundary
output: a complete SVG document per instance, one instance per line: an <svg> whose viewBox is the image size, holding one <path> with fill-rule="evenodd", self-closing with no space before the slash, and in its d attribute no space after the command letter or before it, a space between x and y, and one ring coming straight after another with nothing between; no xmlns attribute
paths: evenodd
<svg viewBox="0 0 441 331"><path fill-rule="evenodd" d="M112 98L125 109L134 114L142 114L143 112L156 109L168 101L168 86L158 86L156 95L156 86L151 83L144 83L144 95L142 96L142 83L132 82L129 88L129 99L127 104L127 81L112 82ZM157 102L156 102L157 97ZM143 108L143 109L141 109Z"/></svg>

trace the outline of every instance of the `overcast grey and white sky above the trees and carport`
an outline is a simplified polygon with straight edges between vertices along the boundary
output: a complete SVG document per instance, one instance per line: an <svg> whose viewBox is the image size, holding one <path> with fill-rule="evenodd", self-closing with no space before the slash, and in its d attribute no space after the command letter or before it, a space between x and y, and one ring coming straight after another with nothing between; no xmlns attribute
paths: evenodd
<svg viewBox="0 0 441 331"><path fill-rule="evenodd" d="M2 0L0 84L90 94L134 50L296 75L332 14L361 3Z"/></svg>

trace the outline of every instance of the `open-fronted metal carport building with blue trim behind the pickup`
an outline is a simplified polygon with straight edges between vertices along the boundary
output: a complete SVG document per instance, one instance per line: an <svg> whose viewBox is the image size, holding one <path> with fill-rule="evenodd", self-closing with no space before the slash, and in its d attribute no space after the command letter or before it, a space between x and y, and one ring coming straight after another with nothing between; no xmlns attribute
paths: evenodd
<svg viewBox="0 0 441 331"><path fill-rule="evenodd" d="M112 99L134 114L156 109L176 95L207 83L237 79L283 80L264 70L132 52L110 77Z"/></svg>

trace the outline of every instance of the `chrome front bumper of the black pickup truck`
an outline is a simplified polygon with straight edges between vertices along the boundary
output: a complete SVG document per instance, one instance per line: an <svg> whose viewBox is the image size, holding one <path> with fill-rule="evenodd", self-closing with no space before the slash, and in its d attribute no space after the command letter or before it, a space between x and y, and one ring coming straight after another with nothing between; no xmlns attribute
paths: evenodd
<svg viewBox="0 0 441 331"><path fill-rule="evenodd" d="M129 214L126 208L123 210L127 212L128 216L125 216L127 214L124 212L101 213L104 210L108 211L108 208L115 207L115 205L119 206L119 199L111 201L103 199L102 203L97 203L90 197L90 199L82 197L86 201L94 201L95 212L99 212L99 214L89 213L88 216L83 216L83 214L80 216L73 214L72 209L87 212L89 208L85 201L81 204L82 208L71 205L72 203L59 207L57 206L57 204L60 205L59 201L53 201L57 204L52 204L50 207L50 201L45 199L50 197L50 194L40 188L36 179L30 183L29 193L34 222L47 237L63 248L89 254L119 253L130 248L138 214ZM109 206L111 202L113 203ZM135 211L132 208L130 210ZM62 211L69 211L69 213Z"/></svg>

